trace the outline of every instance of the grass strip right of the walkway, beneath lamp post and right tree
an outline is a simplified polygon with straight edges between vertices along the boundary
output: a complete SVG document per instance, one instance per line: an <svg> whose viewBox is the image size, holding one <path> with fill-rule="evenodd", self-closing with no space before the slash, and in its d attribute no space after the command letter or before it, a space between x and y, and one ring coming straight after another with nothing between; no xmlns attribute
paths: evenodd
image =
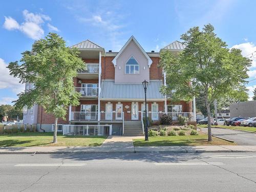
<svg viewBox="0 0 256 192"><path fill-rule="evenodd" d="M212 141L207 141L207 135L189 135L189 136L157 136L144 139L134 139L134 146L172 146L172 145L236 145L223 139L212 137Z"/></svg>

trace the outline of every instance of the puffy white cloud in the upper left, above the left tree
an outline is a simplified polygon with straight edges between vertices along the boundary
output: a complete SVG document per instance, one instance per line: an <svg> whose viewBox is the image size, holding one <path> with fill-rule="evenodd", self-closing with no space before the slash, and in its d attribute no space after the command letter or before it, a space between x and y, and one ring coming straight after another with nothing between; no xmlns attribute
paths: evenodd
<svg viewBox="0 0 256 192"><path fill-rule="evenodd" d="M42 29L42 25L45 21L50 21L51 17L44 14L35 14L31 13L28 10L23 11L24 22L22 24L18 24L18 22L12 17L5 16L4 28L7 30L19 30L26 34L28 37L37 40L44 36L44 29ZM50 24L48 27L51 31L58 31L58 29Z"/></svg>

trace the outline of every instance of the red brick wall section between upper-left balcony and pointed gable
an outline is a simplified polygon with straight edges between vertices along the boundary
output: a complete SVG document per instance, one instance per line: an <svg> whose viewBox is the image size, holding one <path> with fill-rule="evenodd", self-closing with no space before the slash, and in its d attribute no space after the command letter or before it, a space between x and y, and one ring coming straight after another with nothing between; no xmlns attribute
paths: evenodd
<svg viewBox="0 0 256 192"><path fill-rule="evenodd" d="M115 57L101 57L102 79L115 79L115 67L112 60Z"/></svg>

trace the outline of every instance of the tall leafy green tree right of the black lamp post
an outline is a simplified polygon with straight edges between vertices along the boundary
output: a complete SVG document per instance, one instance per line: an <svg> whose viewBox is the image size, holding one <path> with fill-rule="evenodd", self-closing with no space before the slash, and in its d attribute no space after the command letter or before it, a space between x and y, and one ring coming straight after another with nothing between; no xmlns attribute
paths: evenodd
<svg viewBox="0 0 256 192"><path fill-rule="evenodd" d="M210 104L246 82L251 60L243 57L239 49L229 50L210 24L201 31L199 27L189 29L181 39L186 48L180 54L161 52L160 66L166 72L168 84L162 92L175 90L173 99L183 100L204 95L211 141Z"/></svg>

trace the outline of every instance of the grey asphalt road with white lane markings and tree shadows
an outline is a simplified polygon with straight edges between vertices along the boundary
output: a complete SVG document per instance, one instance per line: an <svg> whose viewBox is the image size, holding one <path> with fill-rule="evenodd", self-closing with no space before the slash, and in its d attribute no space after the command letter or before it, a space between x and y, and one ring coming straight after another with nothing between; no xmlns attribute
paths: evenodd
<svg viewBox="0 0 256 192"><path fill-rule="evenodd" d="M0 191L255 191L256 153L0 155Z"/></svg>

